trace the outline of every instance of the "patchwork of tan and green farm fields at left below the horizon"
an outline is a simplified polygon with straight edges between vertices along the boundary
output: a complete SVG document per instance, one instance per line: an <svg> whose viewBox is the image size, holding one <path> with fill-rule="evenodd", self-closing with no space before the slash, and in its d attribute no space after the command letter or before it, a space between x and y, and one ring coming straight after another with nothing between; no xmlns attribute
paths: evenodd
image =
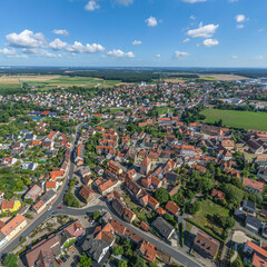
<svg viewBox="0 0 267 267"><path fill-rule="evenodd" d="M120 80L103 80L91 77L70 76L2 76L0 77L1 88L20 88L20 81L40 90L48 90L58 87L99 87L110 88L120 83Z"/></svg>

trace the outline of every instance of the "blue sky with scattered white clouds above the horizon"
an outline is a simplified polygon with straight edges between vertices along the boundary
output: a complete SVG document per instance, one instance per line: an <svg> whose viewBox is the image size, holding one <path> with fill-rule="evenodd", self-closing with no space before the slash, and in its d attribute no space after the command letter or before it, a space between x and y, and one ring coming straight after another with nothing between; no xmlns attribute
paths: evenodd
<svg viewBox="0 0 267 267"><path fill-rule="evenodd" d="M266 0L8 0L0 66L267 67Z"/></svg>

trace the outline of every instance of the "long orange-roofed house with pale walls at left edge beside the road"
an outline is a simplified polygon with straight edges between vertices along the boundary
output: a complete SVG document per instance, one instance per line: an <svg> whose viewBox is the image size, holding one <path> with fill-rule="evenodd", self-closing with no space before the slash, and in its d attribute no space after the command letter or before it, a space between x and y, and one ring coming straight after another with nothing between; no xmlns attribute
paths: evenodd
<svg viewBox="0 0 267 267"><path fill-rule="evenodd" d="M0 229L0 248L9 243L27 226L27 219L23 215L16 215Z"/></svg>

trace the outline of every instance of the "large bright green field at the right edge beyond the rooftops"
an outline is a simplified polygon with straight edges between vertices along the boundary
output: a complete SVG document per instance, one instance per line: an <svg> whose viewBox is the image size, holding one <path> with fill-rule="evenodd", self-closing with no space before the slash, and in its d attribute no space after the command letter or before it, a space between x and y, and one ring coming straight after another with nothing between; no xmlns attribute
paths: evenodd
<svg viewBox="0 0 267 267"><path fill-rule="evenodd" d="M222 119L226 127L267 130L267 113L264 112L206 109L201 113L206 116L205 122L214 123Z"/></svg>

